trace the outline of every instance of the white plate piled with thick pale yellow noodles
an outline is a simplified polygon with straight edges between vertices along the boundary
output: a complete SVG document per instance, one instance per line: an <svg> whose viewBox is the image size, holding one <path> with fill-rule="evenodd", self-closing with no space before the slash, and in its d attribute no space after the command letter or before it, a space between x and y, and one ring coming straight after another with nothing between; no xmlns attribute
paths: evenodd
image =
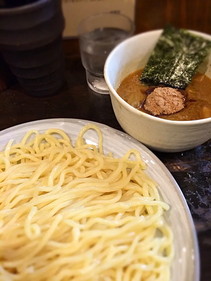
<svg viewBox="0 0 211 281"><path fill-rule="evenodd" d="M48 119L0 132L0 280L199 281L185 198L144 145Z"/></svg>

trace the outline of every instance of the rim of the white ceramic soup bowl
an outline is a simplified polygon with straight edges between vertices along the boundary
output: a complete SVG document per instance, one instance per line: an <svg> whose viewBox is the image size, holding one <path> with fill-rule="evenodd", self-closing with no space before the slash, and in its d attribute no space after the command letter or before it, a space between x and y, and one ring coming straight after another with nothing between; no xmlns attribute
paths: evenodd
<svg viewBox="0 0 211 281"><path fill-rule="evenodd" d="M167 120L167 119L162 119L162 118L158 118L152 115L149 115L147 113L144 113L142 111L139 111L137 109L135 109L134 107L132 107L130 104L128 104L127 102L125 102L116 92L116 90L113 88L113 86L111 85L110 82L110 77L109 77L109 73L108 73L108 69L110 64L112 63L112 59L115 56L115 54L119 51L119 49L122 48L122 46L124 46L127 42L130 42L134 39L137 38L141 38L144 37L146 35L151 35L151 36L155 36L158 35L159 33L162 32L163 29L157 29L157 30L151 30L151 31L146 31L146 32L142 32L139 33L135 36L132 36L126 40L124 40L122 43L120 43L119 45L117 45L113 51L109 54L106 63L105 63L105 67L104 67L104 77L106 80L106 83L108 85L108 88L110 90L110 92L113 94L113 96L118 100L118 102L120 102L120 104L125 107L126 109L128 109L130 112L138 115L138 116L143 116L146 117L148 119L151 119L152 121L156 121L159 123L163 123L163 124L169 124L169 125L179 125L179 126L190 126L190 125L202 125L202 124L207 124L207 123L211 123L211 117L209 118L205 118L205 119L199 119L199 120L191 120L191 121L175 121L175 120ZM211 40L211 35L203 33L203 32L199 32L199 31L195 31L195 30L188 30L191 33L194 33L195 35L199 35L203 38L209 38ZM110 93L110 94L111 94Z"/></svg>

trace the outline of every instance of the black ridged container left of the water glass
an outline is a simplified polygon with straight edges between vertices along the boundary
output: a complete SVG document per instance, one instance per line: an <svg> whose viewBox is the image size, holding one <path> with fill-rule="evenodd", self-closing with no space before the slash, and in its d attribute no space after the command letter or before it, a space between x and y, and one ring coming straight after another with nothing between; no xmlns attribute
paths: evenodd
<svg viewBox="0 0 211 281"><path fill-rule="evenodd" d="M49 96L64 82L61 0L0 8L0 50L28 95Z"/></svg>

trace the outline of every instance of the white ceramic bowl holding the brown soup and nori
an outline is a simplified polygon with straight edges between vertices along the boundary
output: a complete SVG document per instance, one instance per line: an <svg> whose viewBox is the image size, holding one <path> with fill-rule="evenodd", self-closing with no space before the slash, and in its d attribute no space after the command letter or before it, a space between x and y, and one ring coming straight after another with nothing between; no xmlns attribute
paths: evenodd
<svg viewBox="0 0 211 281"><path fill-rule="evenodd" d="M196 121L157 118L133 108L116 92L127 75L146 65L161 32L162 30L144 32L118 45L108 56L104 76L114 113L123 130L151 149L178 152L194 148L211 138L211 118ZM210 35L190 32L211 40ZM205 74L211 78L211 55L206 66Z"/></svg>

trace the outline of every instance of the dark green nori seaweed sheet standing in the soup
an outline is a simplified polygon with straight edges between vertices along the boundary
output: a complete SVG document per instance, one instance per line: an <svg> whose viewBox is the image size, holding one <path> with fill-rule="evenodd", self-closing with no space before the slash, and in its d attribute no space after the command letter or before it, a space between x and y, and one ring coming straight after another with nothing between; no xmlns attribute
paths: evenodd
<svg viewBox="0 0 211 281"><path fill-rule="evenodd" d="M185 89L207 56L211 41L167 25L140 80L148 85Z"/></svg>

